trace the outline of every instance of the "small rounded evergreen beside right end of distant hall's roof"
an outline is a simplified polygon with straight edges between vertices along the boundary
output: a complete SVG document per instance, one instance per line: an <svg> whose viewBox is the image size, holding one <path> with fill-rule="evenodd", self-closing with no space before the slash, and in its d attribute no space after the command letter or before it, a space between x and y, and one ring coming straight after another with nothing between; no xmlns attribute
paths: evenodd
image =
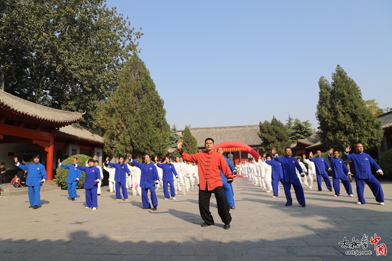
<svg viewBox="0 0 392 261"><path fill-rule="evenodd" d="M284 155L285 147L290 145L287 141L287 128L275 116L272 117L271 122L266 120L262 123L260 121L260 132L258 135L263 141L261 150L268 154L272 148L275 148L279 155Z"/></svg>

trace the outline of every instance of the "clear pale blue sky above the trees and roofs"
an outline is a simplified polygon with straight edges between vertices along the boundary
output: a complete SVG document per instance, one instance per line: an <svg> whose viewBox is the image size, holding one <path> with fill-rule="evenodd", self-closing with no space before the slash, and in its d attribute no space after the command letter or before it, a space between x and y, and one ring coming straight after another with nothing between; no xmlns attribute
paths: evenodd
<svg viewBox="0 0 392 261"><path fill-rule="evenodd" d="M363 99L392 107L392 1L108 0L143 27L146 63L177 129L318 125L318 81L339 64Z"/></svg>

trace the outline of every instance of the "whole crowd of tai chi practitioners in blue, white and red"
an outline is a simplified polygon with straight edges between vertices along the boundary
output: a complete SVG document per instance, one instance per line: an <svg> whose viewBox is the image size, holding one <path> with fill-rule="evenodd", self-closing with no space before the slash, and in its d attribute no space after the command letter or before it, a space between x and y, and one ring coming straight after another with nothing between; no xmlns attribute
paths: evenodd
<svg viewBox="0 0 392 261"><path fill-rule="evenodd" d="M354 197L349 176L355 176L356 192L358 195L357 204L365 204L364 189L365 183L368 185L376 201L384 205L384 194L378 180L371 173L375 169L378 174L383 175L383 171L377 163L366 153L361 143L356 144L356 153L349 154L350 146L344 150L343 158L353 164L351 173L341 159L340 153L331 148L328 154L328 164L325 158L321 157L321 152L317 151L317 156L309 154L308 159L303 155L303 161L308 168L292 156L290 147L285 149L285 155L279 156L275 149L271 150L272 157L267 154L259 156L249 162L242 162L237 165L237 169L231 162L223 156L223 149L219 147L214 150L214 141L211 138L205 141L206 151L199 151L196 154L188 155L182 150L182 140L177 142L177 149L180 157L176 157L172 162L171 157L165 156L154 162L151 156L146 154L144 161L139 163L132 159L132 155L125 160L119 157L118 163L109 162L106 158L103 169L109 172L110 192L116 193L116 200L128 200L127 190L132 190L132 195L142 196L143 209L157 210L158 200L155 190L163 188L165 200L175 200L176 193L186 194L190 189L198 187L200 215L205 223L202 226L214 224L209 202L211 194L214 193L217 200L218 214L224 222L225 229L230 228L231 215L229 209L235 209L234 191L231 183L239 171L254 185L261 187L266 192L273 193L273 198L279 195L279 183L283 185L286 196L286 206L293 204L291 187L294 188L296 199L302 207L306 206L303 186L313 188L314 178L316 177L318 191L322 191L322 181L327 190L335 191L333 196L340 196L340 182L342 182L347 195ZM30 208L38 209L40 206L40 188L46 180L45 166L40 163L40 157L34 156L33 161L27 165L22 165L14 158L15 165L27 172L25 186L28 187ZM196 165L198 164L198 165ZM98 161L90 159L84 166L78 165L77 158L73 158L72 164L64 165L58 160L60 167L69 169L67 183L70 199L75 201L77 198L76 185L81 178L81 171L86 173L83 187L85 188L86 209L98 209L98 195L100 195L100 184L103 179L103 172ZM4 165L1 165L4 169ZM332 171L332 184L327 171ZM15 177L13 185L19 184ZM12 182L11 182L12 183ZM169 190L170 188L170 190ZM147 193L150 192L151 204Z"/></svg>

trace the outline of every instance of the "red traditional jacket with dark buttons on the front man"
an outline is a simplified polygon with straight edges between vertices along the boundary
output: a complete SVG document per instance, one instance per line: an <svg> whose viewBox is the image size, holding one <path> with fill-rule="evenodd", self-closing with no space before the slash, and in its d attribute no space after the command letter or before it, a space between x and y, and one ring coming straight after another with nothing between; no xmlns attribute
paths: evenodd
<svg viewBox="0 0 392 261"><path fill-rule="evenodd" d="M189 162L196 162L199 170L200 190L214 190L223 186L221 170L226 178L233 178L226 160L216 151L198 152L188 155L183 150L178 151L182 158Z"/></svg>

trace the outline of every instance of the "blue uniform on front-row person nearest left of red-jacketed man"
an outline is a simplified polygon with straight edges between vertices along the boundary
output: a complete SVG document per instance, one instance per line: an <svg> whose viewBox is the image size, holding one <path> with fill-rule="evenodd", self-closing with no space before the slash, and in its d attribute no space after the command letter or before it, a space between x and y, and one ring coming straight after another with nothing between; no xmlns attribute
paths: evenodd
<svg viewBox="0 0 392 261"><path fill-rule="evenodd" d="M142 187L143 208L150 209L151 205L148 201L148 189L151 191L151 203L153 207L158 206L158 200L155 194L155 181L159 182L158 171L152 163L142 164L131 159L131 163L140 168L142 174L140 176L139 186ZM171 187L174 187L170 185ZM172 188L171 188L172 189Z"/></svg>

